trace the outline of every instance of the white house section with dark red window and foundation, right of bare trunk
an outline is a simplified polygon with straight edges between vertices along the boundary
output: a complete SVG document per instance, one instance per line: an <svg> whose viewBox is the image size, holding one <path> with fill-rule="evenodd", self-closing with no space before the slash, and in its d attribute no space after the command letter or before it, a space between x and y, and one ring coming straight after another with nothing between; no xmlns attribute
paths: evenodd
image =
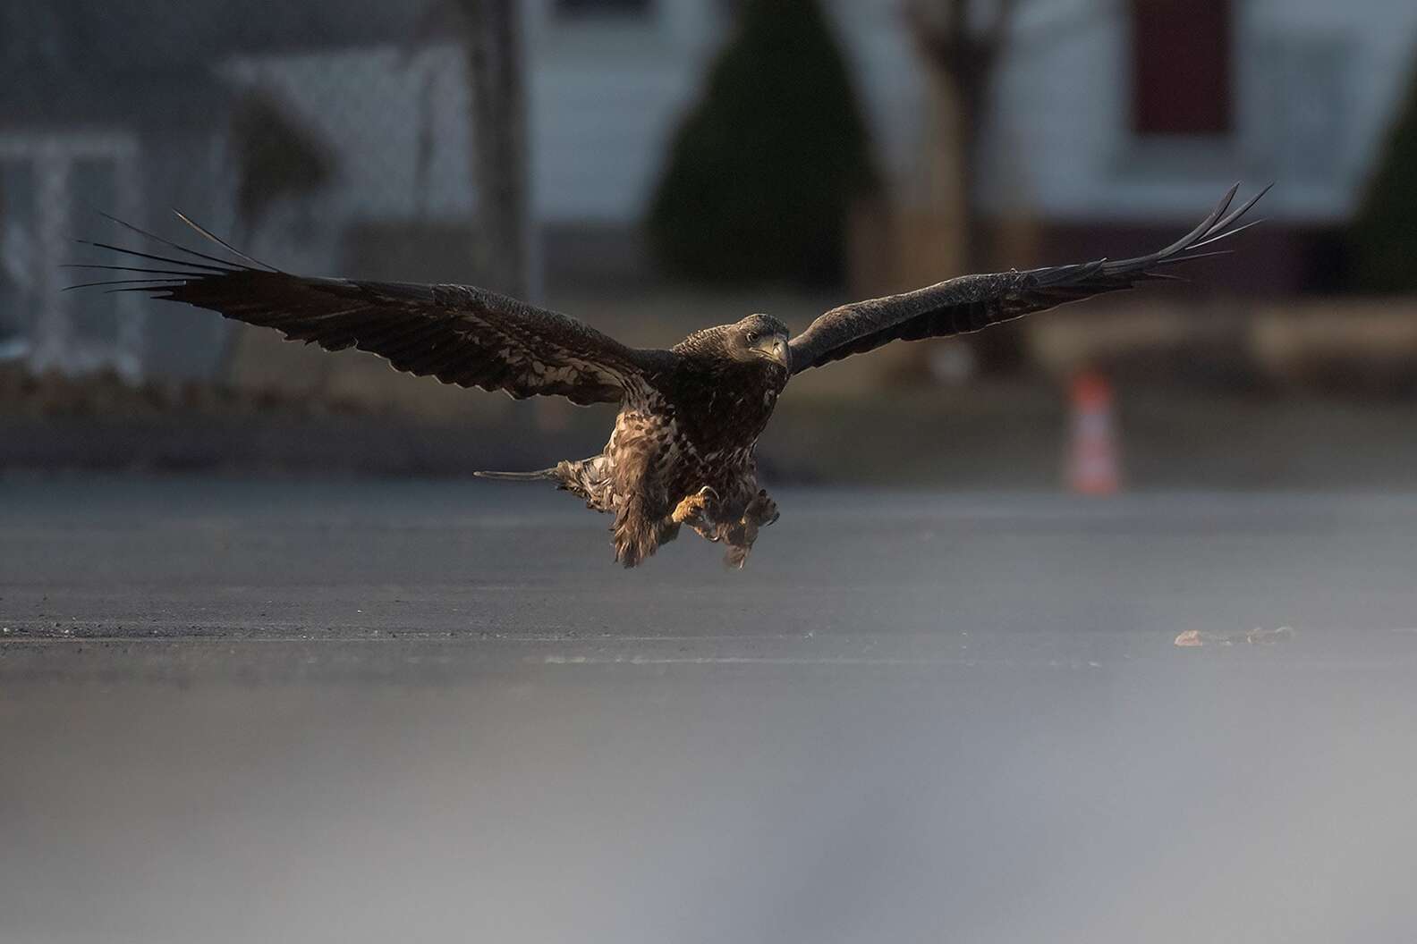
<svg viewBox="0 0 1417 944"><path fill-rule="evenodd" d="M1022 205L1049 255L1107 255L1195 217L1227 183L1277 181L1229 272L1248 292L1340 287L1333 239L1362 197L1417 51L1394 0L1020 4L983 201ZM1156 234L1162 235L1162 234ZM1268 255L1253 255L1263 245Z"/></svg>

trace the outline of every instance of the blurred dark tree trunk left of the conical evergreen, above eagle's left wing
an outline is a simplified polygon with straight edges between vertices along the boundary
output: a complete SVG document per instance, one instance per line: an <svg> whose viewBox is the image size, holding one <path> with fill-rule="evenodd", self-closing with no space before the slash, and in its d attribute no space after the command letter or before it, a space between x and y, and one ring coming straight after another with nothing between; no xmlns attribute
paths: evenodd
<svg viewBox="0 0 1417 944"><path fill-rule="evenodd" d="M526 297L530 283L526 82L517 0L456 0L472 84L472 178L487 286Z"/></svg>

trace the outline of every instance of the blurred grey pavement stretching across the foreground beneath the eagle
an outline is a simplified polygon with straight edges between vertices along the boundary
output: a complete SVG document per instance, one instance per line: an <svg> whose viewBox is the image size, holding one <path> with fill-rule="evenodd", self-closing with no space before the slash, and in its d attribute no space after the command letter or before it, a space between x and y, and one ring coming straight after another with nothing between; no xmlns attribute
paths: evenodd
<svg viewBox="0 0 1417 944"><path fill-rule="evenodd" d="M1417 497L3 488L0 940L1417 928Z"/></svg>

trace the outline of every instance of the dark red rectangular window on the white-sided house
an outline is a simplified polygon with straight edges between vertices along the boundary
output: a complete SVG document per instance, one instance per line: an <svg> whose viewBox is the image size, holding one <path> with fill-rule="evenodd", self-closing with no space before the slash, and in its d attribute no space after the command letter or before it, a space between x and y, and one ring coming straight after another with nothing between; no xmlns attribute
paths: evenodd
<svg viewBox="0 0 1417 944"><path fill-rule="evenodd" d="M1131 0L1131 10L1134 130L1227 134L1230 0Z"/></svg>

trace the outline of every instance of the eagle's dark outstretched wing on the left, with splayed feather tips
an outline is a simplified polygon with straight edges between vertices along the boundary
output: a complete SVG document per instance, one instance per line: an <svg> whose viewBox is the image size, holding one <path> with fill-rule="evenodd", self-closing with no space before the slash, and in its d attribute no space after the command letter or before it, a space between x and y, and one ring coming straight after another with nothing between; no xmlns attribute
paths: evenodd
<svg viewBox="0 0 1417 944"><path fill-rule="evenodd" d="M179 214L180 217L180 214ZM91 282L113 292L147 292L224 317L275 328L326 351L359 348L395 369L444 384L502 389L521 399L538 393L574 403L615 403L626 385L672 361L669 351L631 348L575 318L461 284L310 279L279 272L232 249L186 217L197 232L234 253L231 262L129 226L186 259L86 243L145 263L78 265L143 277ZM146 267L157 266L162 267Z"/></svg>

